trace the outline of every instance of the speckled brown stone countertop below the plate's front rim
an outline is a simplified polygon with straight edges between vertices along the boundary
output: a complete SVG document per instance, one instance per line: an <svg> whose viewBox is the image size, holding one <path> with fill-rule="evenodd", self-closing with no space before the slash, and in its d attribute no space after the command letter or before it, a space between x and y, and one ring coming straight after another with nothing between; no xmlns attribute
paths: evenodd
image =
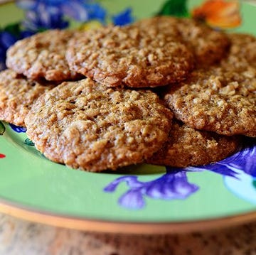
<svg viewBox="0 0 256 255"><path fill-rule="evenodd" d="M249 255L256 254L256 222L191 234L95 234L0 215L1 255Z"/></svg>

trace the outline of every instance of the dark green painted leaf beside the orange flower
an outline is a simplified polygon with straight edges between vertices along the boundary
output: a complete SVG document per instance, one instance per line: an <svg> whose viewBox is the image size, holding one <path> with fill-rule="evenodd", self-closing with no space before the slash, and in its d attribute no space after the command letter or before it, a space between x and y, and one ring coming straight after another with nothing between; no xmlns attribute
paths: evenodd
<svg viewBox="0 0 256 255"><path fill-rule="evenodd" d="M188 17L186 0L168 0L165 2L158 15L171 15L177 17Z"/></svg>

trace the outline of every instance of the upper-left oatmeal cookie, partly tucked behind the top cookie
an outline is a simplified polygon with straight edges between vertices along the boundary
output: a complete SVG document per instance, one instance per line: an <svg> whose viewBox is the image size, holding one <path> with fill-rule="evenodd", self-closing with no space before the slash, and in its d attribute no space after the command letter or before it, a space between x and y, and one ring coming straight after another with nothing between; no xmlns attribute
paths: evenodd
<svg viewBox="0 0 256 255"><path fill-rule="evenodd" d="M49 30L18 40L7 50L6 65L29 79L49 81L73 80L78 74L71 71L65 60L67 43L73 31Z"/></svg>

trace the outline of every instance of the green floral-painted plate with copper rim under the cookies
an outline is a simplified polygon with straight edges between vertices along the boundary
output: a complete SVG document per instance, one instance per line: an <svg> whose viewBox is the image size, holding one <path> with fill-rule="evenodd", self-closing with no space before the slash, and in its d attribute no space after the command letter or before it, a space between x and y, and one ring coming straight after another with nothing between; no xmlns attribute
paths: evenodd
<svg viewBox="0 0 256 255"><path fill-rule="evenodd" d="M196 16L210 26L255 33L256 6L238 1L34 1L0 6L0 69L19 38L49 28L124 25L156 14ZM101 232L183 232L256 218L256 141L191 168L138 165L87 173L53 163L26 130L0 122L0 211L61 227Z"/></svg>

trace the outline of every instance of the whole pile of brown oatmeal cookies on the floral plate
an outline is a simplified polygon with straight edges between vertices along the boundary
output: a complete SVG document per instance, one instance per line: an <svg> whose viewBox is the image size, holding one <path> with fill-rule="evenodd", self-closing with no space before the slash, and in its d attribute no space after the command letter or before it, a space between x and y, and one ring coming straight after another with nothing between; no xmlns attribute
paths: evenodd
<svg viewBox="0 0 256 255"><path fill-rule="evenodd" d="M8 50L0 119L71 168L214 163L256 137L255 49L170 16L38 33Z"/></svg>

